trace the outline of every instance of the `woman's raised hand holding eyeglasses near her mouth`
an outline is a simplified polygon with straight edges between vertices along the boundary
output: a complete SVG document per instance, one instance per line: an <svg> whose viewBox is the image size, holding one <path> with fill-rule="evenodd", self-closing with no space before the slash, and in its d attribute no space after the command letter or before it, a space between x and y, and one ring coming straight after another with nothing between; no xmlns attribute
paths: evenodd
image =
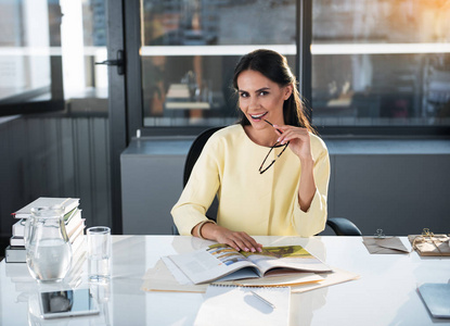
<svg viewBox="0 0 450 326"><path fill-rule="evenodd" d="M311 139L308 129L288 125L273 125L273 128L280 136L278 141L282 145L290 141L290 149L300 159L300 161L312 160Z"/></svg>

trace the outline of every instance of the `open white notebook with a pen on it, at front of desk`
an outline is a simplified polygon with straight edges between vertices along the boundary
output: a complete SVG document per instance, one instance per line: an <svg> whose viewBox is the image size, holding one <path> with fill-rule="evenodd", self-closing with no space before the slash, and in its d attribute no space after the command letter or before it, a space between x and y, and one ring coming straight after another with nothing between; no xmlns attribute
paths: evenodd
<svg viewBox="0 0 450 326"><path fill-rule="evenodd" d="M209 285L194 325L290 324L290 287Z"/></svg>

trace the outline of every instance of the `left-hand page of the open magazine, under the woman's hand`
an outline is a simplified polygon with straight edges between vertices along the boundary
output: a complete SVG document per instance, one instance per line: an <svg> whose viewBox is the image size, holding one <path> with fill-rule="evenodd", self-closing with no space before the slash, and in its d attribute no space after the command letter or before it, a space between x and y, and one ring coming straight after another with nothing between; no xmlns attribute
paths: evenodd
<svg viewBox="0 0 450 326"><path fill-rule="evenodd" d="M252 269L253 273L250 272L250 275L258 277L257 266L254 263L223 243L211 244L190 253L169 255L169 259L194 284L213 281L246 267ZM245 276L228 277L228 279L241 277L248 277L248 273L245 273Z"/></svg>

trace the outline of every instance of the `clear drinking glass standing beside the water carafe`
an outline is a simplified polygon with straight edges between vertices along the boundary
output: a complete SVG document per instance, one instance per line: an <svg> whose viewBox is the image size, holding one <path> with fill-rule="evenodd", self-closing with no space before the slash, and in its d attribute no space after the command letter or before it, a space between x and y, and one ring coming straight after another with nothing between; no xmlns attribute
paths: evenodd
<svg viewBox="0 0 450 326"><path fill-rule="evenodd" d="M94 226L87 230L89 281L107 283L111 275L111 229Z"/></svg>

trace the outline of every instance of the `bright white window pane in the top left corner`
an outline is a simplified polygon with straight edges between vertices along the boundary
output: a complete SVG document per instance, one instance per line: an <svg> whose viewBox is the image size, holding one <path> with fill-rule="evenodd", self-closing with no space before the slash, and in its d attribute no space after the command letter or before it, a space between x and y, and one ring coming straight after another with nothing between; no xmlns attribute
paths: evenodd
<svg viewBox="0 0 450 326"><path fill-rule="evenodd" d="M49 97L54 54L50 47L60 35L51 30L61 18L54 9L46 1L0 4L0 104ZM57 90L54 96L60 97Z"/></svg>

